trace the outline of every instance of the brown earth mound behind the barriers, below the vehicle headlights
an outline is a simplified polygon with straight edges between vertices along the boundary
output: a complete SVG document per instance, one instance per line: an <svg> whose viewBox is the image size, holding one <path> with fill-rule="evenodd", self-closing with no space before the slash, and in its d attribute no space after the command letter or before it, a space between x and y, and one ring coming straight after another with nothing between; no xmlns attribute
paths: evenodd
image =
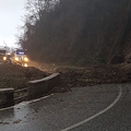
<svg viewBox="0 0 131 131"><path fill-rule="evenodd" d="M17 64L0 64L0 88L20 90L27 86L28 81L47 76L34 67L23 68Z"/></svg>

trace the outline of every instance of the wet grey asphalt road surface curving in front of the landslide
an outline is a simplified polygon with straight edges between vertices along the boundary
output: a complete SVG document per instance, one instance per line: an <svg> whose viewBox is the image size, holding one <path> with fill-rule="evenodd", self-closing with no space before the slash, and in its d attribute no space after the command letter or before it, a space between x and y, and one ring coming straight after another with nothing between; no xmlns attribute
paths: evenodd
<svg viewBox="0 0 131 131"><path fill-rule="evenodd" d="M131 131L130 84L75 87L0 110L0 131Z"/></svg>

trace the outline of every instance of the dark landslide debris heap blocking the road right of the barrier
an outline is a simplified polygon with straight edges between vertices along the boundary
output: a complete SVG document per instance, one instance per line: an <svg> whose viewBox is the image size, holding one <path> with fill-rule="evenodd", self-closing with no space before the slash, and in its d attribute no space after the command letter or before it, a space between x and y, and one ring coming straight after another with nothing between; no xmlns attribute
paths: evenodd
<svg viewBox="0 0 131 131"><path fill-rule="evenodd" d="M131 64L97 64L92 68L58 68L62 86L52 92L67 92L71 87L93 86L96 84L114 84L131 82Z"/></svg>

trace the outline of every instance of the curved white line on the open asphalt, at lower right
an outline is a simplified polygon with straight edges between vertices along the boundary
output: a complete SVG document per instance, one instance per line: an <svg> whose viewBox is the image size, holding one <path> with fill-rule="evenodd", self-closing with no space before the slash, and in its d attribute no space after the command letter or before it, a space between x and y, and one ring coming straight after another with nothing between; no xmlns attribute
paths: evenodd
<svg viewBox="0 0 131 131"><path fill-rule="evenodd" d="M70 127L68 127L68 128L66 128L66 129L63 129L61 131L70 131L70 130L72 130L74 128L78 128L78 127L80 127L80 126L82 126L82 124L93 120L94 118L103 115L104 112L108 111L110 108L112 108L118 103L118 100L120 99L121 95L122 95L122 88L119 87L119 94L118 94L117 98L108 107L106 107L102 111L97 112L96 115L94 115L94 116L92 116L92 117L90 117L90 118L87 118L85 120L82 120L82 121L80 121L80 122L78 122L78 123L75 123L73 126L70 126Z"/></svg>

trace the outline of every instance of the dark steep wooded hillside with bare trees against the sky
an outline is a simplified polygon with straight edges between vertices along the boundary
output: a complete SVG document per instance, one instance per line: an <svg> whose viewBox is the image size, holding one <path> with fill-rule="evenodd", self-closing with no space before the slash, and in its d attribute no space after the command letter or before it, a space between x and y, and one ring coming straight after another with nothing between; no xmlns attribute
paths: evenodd
<svg viewBox="0 0 131 131"><path fill-rule="evenodd" d="M20 44L46 62L115 63L127 55L131 0L28 0ZM129 51L130 52L130 51Z"/></svg>

